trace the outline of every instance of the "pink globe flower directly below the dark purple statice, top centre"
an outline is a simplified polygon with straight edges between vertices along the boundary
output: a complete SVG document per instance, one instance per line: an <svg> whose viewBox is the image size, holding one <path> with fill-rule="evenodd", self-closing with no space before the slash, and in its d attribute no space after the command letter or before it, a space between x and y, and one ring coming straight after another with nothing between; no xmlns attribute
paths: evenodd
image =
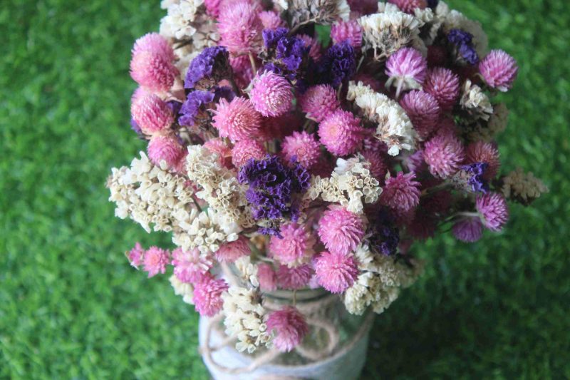
<svg viewBox="0 0 570 380"><path fill-rule="evenodd" d="M307 114L307 118L321 123L329 115L341 108L336 98L336 91L328 84L312 86L299 96L299 106Z"/></svg>

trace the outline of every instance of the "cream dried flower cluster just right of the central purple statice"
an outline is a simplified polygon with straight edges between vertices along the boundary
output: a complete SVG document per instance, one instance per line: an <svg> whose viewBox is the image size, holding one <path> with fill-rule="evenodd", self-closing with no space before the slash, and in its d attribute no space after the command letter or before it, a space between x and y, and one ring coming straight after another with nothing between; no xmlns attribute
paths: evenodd
<svg viewBox="0 0 570 380"><path fill-rule="evenodd" d="M320 197L325 202L340 203L348 211L363 214L364 204L375 203L382 194L380 183L371 175L369 166L362 155L349 160L339 158L331 177L311 178L304 200L313 201Z"/></svg>

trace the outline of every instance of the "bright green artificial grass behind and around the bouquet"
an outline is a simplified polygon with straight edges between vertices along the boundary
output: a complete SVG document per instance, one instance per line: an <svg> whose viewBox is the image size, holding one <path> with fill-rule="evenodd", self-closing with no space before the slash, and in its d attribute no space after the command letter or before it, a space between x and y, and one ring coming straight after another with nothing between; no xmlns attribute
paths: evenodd
<svg viewBox="0 0 570 380"><path fill-rule="evenodd" d="M569 63L564 1L449 1L521 66L499 138L551 192L501 236L437 238L418 284L376 319L364 376L570 377ZM130 47L159 1L6 1L0 9L0 377L206 379L197 314L123 257L105 178L143 148L129 126Z"/></svg>

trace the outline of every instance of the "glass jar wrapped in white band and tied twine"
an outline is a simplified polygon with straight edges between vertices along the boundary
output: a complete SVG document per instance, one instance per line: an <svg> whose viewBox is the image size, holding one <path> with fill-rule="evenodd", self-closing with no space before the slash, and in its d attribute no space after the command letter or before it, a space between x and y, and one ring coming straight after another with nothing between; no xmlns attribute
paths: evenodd
<svg viewBox="0 0 570 380"><path fill-rule="evenodd" d="M288 353L266 348L240 353L224 333L222 315L201 317L200 350L213 379L358 379L374 314L349 314L338 294L323 289L266 293L264 307L271 312L293 302L306 317L309 334Z"/></svg>

